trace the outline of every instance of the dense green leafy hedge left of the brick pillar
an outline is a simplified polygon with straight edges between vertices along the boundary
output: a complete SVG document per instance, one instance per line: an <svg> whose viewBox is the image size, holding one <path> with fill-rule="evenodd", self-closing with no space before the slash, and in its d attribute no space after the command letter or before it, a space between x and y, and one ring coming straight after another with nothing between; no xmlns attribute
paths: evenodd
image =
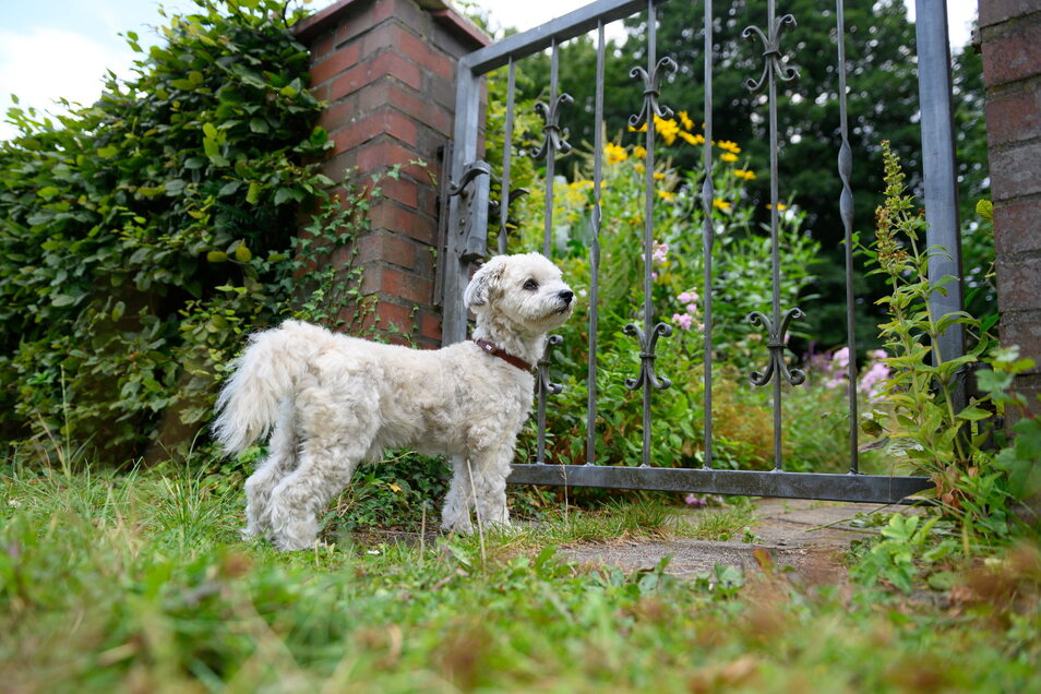
<svg viewBox="0 0 1041 694"><path fill-rule="evenodd" d="M0 439L109 462L187 450L241 334L344 319L327 272L368 224L319 174L309 57L274 0L196 0L136 76L0 143ZM312 222L307 223L310 217ZM306 232L295 230L303 219ZM347 289L349 291L349 289ZM337 301L352 301L338 295ZM158 444L158 445L156 445Z"/></svg>

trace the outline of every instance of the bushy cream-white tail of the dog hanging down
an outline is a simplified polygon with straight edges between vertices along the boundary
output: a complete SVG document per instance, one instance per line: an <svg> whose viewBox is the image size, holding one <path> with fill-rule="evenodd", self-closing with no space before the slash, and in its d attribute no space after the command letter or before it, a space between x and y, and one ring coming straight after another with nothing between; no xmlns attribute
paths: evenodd
<svg viewBox="0 0 1041 694"><path fill-rule="evenodd" d="M283 399L307 371L311 355L327 337L324 328L297 321L250 336L250 346L232 362L232 372L217 397L214 436L234 455L266 436Z"/></svg>

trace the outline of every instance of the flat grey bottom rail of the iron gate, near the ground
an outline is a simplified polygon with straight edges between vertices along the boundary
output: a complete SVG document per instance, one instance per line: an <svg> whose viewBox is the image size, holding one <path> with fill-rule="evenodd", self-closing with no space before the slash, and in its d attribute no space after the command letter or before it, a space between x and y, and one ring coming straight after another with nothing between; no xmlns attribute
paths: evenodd
<svg viewBox="0 0 1041 694"><path fill-rule="evenodd" d="M821 499L878 504L901 503L908 496L933 488L928 477L537 464L514 465L506 482Z"/></svg>

